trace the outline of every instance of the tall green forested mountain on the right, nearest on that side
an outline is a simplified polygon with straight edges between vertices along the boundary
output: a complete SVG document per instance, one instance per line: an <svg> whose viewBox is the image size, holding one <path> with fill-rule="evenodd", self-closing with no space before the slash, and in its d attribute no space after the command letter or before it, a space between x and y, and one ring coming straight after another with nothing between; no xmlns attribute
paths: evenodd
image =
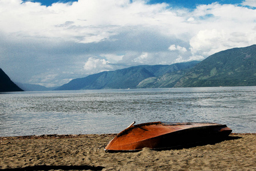
<svg viewBox="0 0 256 171"><path fill-rule="evenodd" d="M204 59L174 87L256 86L256 45L232 48Z"/></svg>

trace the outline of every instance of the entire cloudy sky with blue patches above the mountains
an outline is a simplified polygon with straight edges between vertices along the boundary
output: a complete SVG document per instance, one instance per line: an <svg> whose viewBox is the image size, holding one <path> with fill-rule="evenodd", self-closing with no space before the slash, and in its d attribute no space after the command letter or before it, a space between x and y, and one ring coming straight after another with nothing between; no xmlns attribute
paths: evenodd
<svg viewBox="0 0 256 171"><path fill-rule="evenodd" d="M0 0L0 22L0 68L46 87L256 44L255 0Z"/></svg>

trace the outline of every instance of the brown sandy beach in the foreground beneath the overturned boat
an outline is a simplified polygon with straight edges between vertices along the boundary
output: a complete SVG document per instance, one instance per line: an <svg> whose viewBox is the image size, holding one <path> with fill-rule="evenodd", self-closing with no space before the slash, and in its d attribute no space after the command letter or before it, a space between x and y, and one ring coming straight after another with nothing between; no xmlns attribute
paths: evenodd
<svg viewBox="0 0 256 171"><path fill-rule="evenodd" d="M115 135L0 137L0 170L256 170L256 135L182 149L105 153Z"/></svg>

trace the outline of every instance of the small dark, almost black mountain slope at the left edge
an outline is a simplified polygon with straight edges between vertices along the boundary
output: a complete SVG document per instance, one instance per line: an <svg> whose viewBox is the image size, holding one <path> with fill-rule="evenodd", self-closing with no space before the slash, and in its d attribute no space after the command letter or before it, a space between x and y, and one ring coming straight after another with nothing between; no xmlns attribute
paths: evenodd
<svg viewBox="0 0 256 171"><path fill-rule="evenodd" d="M0 68L0 92L23 91Z"/></svg>

